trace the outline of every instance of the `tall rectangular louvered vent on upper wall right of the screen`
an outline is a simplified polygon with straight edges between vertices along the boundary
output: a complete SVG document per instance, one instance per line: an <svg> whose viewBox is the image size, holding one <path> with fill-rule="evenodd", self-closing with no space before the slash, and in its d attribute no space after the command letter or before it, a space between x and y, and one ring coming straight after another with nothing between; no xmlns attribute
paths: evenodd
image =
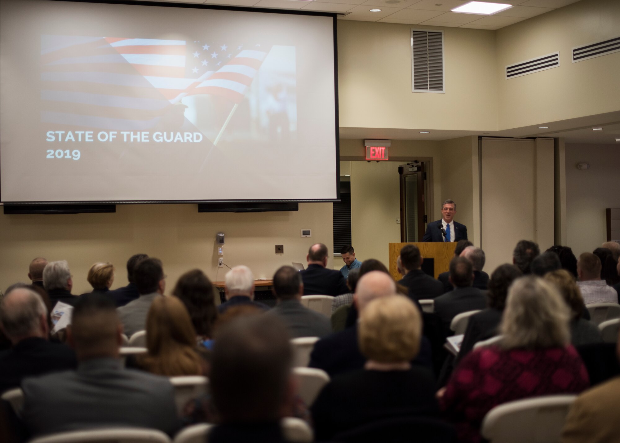
<svg viewBox="0 0 620 443"><path fill-rule="evenodd" d="M444 92L443 31L411 30L413 92Z"/></svg>

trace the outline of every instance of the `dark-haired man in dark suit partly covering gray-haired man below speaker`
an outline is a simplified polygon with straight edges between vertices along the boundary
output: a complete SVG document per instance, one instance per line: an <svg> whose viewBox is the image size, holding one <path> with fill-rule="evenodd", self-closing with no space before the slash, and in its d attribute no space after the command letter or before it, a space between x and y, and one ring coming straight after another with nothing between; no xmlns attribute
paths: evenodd
<svg viewBox="0 0 620 443"><path fill-rule="evenodd" d="M474 272L471 261L464 257L453 258L450 261L450 282L454 289L435 298L435 314L440 318L446 334L456 315L487 307L487 297L472 287Z"/></svg>

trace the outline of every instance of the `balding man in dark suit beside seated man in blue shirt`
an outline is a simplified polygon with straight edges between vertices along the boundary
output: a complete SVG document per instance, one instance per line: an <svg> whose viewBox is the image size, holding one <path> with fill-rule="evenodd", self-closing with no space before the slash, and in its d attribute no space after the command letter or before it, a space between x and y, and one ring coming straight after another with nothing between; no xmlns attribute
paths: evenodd
<svg viewBox="0 0 620 443"><path fill-rule="evenodd" d="M304 295L340 295L348 292L347 280L335 269L327 269L327 246L313 244L308 250L308 267L301 271Z"/></svg>

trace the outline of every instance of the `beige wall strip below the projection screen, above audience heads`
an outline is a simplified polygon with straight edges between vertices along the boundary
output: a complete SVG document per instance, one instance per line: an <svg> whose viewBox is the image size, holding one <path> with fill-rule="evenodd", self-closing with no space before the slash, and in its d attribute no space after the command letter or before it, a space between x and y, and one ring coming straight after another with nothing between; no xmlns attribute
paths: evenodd
<svg viewBox="0 0 620 443"><path fill-rule="evenodd" d="M301 229L311 229L312 237L301 238ZM97 261L116 266L113 287L125 285L125 263L135 253L164 262L169 290L195 267L223 280L228 268L218 272L215 252L220 231L226 235L228 266L246 264L257 279L270 278L283 264L305 263L312 243L332 250L332 204L299 204L298 212L198 213L197 205L117 205L116 213L107 214L0 215L0 289L27 280L28 265L37 256L68 260L78 294L91 290L86 274ZM276 244L284 245L284 254L275 254Z"/></svg>

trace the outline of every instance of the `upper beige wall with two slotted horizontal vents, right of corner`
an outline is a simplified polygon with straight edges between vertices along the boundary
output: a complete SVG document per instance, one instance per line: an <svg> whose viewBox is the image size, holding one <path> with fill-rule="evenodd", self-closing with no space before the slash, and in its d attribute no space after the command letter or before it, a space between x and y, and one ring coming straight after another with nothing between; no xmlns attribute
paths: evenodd
<svg viewBox="0 0 620 443"><path fill-rule="evenodd" d="M499 129L618 110L620 53L572 63L572 48L620 35L618 0L582 0L497 31ZM505 79L505 66L560 51L560 66Z"/></svg>

